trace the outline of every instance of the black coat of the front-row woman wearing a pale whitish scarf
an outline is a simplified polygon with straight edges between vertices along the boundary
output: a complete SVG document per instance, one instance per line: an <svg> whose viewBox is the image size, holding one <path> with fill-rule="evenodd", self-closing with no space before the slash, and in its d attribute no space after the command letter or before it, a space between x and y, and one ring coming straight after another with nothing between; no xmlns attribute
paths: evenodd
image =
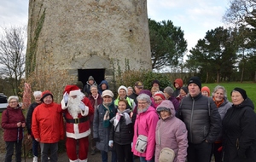
<svg viewBox="0 0 256 162"><path fill-rule="evenodd" d="M131 113L129 114L131 115ZM131 124L125 124L125 118L121 116L119 120L119 131L117 132L112 125L110 130L109 140L118 143L119 145L131 144L133 138L133 126L136 119L136 114L133 113L131 116Z"/></svg>

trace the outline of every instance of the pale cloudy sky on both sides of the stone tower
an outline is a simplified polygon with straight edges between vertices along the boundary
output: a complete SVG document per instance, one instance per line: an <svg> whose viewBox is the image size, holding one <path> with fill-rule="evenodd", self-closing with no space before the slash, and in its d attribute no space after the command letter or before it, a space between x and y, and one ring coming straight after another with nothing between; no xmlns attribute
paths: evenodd
<svg viewBox="0 0 256 162"><path fill-rule="evenodd" d="M188 49L195 47L208 30L224 26L222 16L229 0L148 0L148 18L172 20L180 26ZM27 24L29 0L0 0L0 26Z"/></svg>

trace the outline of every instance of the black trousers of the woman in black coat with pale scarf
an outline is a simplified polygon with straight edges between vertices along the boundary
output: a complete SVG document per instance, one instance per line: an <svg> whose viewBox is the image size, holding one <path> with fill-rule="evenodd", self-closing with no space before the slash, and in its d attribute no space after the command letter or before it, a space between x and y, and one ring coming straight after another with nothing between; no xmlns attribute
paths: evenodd
<svg viewBox="0 0 256 162"><path fill-rule="evenodd" d="M133 156L131 152L131 144L119 145L118 143L113 143L116 149L117 160L122 162L132 162Z"/></svg>

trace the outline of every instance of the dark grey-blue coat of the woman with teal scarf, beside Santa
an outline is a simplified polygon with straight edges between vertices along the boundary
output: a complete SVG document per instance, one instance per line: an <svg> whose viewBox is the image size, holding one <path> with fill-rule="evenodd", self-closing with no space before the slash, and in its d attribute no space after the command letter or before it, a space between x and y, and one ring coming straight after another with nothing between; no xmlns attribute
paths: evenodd
<svg viewBox="0 0 256 162"><path fill-rule="evenodd" d="M109 106L110 114L109 114L109 120L113 118L114 114L116 113L116 109L112 104ZM96 142L96 148L98 148L101 151L108 152L108 150L112 150L112 148L108 147L108 141L109 141L109 132L111 130L112 124L109 122L108 127L103 126L103 119L104 115L107 111L107 108L103 106L103 104L99 105L99 107L96 108L94 113L94 119L93 119L93 138L98 139L99 141Z"/></svg>

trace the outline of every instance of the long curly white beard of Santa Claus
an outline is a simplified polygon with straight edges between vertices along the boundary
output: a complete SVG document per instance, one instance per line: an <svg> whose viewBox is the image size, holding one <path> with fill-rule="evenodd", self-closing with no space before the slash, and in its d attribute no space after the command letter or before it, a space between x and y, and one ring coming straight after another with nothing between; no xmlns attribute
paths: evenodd
<svg viewBox="0 0 256 162"><path fill-rule="evenodd" d="M70 97L69 100L68 100L68 113L70 113L70 115L73 117L73 119L77 119L78 116L79 116L79 113L80 113L80 102L81 102L81 99L80 97L76 97L76 98L72 98Z"/></svg>

